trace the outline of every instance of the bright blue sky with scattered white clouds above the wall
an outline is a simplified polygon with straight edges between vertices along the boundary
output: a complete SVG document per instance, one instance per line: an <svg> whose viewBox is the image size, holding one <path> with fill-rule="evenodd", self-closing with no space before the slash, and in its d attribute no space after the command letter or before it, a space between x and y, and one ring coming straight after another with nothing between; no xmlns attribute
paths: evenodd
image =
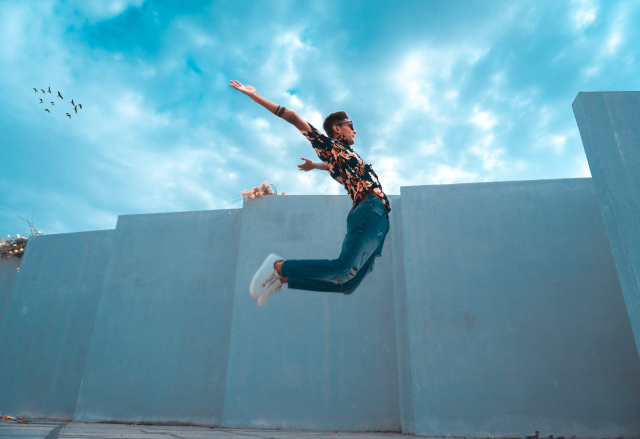
<svg viewBox="0 0 640 439"><path fill-rule="evenodd" d="M637 1L3 0L0 234L239 208L264 180L346 195L230 79L318 128L346 111L387 194L589 177L571 104L640 88L638 22Z"/></svg>

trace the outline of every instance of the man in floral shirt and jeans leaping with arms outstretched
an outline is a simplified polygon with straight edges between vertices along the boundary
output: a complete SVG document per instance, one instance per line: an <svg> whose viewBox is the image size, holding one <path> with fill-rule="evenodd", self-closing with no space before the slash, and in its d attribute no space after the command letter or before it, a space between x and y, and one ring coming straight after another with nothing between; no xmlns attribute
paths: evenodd
<svg viewBox="0 0 640 439"><path fill-rule="evenodd" d="M271 253L253 276L251 297L258 298L258 305L262 306L285 283L290 289L353 293L367 273L373 271L375 258L382 255L391 211L378 176L351 148L356 136L353 122L344 111L332 113L323 124L325 136L295 112L260 96L254 87L234 80L229 85L300 130L322 161L314 163L303 158L305 163L298 167L303 171L326 169L353 200L338 259L285 260Z"/></svg>

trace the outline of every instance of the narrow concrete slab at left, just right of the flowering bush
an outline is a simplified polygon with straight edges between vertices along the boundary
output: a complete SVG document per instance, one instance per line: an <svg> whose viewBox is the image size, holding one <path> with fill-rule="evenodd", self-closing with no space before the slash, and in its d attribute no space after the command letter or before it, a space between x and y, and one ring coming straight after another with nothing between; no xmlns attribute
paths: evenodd
<svg viewBox="0 0 640 439"><path fill-rule="evenodd" d="M0 413L73 417L112 235L29 238L0 331Z"/></svg>

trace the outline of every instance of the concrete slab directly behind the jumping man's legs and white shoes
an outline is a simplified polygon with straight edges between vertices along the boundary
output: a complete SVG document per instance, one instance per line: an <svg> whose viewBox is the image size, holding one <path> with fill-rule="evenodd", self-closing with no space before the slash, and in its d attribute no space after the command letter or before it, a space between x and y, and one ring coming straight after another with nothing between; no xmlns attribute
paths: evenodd
<svg viewBox="0 0 640 439"><path fill-rule="evenodd" d="M373 272L349 296L284 286L259 307L249 295L269 253L337 258L351 205L346 196L245 202L224 426L400 429L389 235Z"/></svg>

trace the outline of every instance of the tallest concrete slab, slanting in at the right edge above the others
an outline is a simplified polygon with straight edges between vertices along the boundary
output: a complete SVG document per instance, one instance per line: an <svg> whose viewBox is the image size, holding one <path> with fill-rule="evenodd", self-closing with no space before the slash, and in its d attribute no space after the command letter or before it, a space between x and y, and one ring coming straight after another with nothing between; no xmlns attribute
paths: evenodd
<svg viewBox="0 0 640 439"><path fill-rule="evenodd" d="M640 92L579 93L573 111L640 351Z"/></svg>

